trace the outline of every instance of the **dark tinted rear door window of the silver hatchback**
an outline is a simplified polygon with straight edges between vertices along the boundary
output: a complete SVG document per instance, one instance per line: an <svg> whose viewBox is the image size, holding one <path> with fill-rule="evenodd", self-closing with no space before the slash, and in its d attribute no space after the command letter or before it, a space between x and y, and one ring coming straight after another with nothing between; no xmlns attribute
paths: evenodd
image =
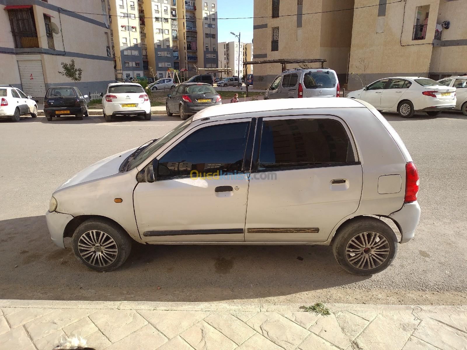
<svg viewBox="0 0 467 350"><path fill-rule="evenodd" d="M258 170L336 166L354 161L347 132L336 120L263 122Z"/></svg>

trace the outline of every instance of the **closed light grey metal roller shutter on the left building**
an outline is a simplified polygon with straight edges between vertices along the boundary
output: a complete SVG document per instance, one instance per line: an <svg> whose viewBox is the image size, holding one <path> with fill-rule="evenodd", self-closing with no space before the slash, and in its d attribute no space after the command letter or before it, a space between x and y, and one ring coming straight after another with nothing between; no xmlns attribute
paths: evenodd
<svg viewBox="0 0 467 350"><path fill-rule="evenodd" d="M23 57L17 56L16 59L20 70L23 92L26 95L31 95L33 98L44 97L45 81L44 73L42 71L41 57L38 55L28 55Z"/></svg>

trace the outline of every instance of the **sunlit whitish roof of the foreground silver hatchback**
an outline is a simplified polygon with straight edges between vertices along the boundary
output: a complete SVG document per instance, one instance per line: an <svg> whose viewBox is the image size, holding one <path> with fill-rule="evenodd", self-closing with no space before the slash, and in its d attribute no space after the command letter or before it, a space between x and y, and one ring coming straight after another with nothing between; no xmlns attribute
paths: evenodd
<svg viewBox="0 0 467 350"><path fill-rule="evenodd" d="M246 101L235 104L215 105L205 108L193 120L219 117L219 119L244 118L245 113L290 111L315 108L365 108L368 106L354 98L317 97ZM370 106L371 107L371 106ZM373 107L372 107L373 108ZM226 117L226 118L222 118ZM227 118L228 117L228 118Z"/></svg>

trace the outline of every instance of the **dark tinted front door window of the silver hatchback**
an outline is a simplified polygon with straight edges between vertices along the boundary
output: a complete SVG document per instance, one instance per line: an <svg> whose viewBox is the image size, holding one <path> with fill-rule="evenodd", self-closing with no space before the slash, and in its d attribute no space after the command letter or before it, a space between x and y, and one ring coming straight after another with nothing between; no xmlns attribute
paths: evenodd
<svg viewBox="0 0 467 350"><path fill-rule="evenodd" d="M241 172L249 124L219 124L195 131L160 159L159 166L169 171L159 171L157 179Z"/></svg>

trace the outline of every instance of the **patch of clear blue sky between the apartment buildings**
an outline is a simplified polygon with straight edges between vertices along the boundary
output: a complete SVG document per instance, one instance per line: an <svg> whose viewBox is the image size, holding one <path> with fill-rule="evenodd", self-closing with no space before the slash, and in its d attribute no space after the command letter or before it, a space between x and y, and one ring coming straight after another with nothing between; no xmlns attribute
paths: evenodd
<svg viewBox="0 0 467 350"><path fill-rule="evenodd" d="M218 18L252 17L253 0L218 0L217 16ZM253 18L248 20L218 20L217 25L219 42L238 40L230 32L235 34L240 32L242 42L253 40Z"/></svg>

